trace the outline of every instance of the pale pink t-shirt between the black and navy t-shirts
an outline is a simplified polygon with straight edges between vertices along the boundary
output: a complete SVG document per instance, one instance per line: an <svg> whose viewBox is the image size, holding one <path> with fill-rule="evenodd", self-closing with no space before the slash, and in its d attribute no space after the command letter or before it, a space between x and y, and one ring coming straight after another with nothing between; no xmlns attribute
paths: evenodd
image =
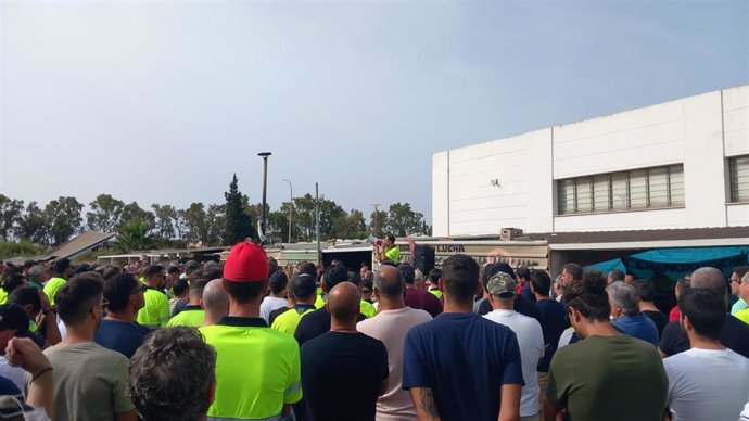
<svg viewBox="0 0 749 421"><path fill-rule="evenodd" d="M382 341L388 349L388 392L377 400L377 421L384 420L416 420L416 409L408 391L401 388L403 384L403 346L406 333L423 322L432 320L432 316L424 310L410 307L397 310L383 310L377 317L363 320L356 329L376 340Z"/></svg>

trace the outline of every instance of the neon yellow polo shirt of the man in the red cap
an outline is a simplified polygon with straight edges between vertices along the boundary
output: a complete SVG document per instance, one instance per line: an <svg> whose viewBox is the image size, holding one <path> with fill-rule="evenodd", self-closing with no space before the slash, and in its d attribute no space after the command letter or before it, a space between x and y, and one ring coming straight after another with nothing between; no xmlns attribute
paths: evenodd
<svg viewBox="0 0 749 421"><path fill-rule="evenodd" d="M302 399L300 349L293 337L268 329L262 318L231 316L200 331L217 355L208 420L274 419L284 404Z"/></svg>

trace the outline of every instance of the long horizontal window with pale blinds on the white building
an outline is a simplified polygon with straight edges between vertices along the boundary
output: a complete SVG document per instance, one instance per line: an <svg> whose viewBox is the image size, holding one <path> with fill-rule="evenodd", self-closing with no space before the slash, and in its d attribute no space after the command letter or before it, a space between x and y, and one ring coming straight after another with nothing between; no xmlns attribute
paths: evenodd
<svg viewBox="0 0 749 421"><path fill-rule="evenodd" d="M741 194L749 200L749 156L742 163ZM684 166L569 178L557 181L557 191L559 215L680 207L684 206Z"/></svg>

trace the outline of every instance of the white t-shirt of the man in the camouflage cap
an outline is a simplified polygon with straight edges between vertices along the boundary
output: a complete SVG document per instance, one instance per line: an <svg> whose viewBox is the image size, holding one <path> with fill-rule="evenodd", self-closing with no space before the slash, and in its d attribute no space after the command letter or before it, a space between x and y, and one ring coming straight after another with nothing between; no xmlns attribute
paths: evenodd
<svg viewBox="0 0 749 421"><path fill-rule="evenodd" d="M538 320L515 310L494 310L485 318L505 324L518 336L523 363L525 385L520 395L520 417L537 416L538 408L538 360L544 356L544 331Z"/></svg>

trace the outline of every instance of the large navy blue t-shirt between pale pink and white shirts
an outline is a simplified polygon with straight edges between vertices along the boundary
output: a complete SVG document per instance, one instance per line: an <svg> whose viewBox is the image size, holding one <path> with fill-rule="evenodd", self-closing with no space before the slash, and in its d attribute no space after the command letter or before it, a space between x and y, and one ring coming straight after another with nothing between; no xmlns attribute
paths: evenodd
<svg viewBox="0 0 749 421"><path fill-rule="evenodd" d="M403 354L403 388L431 388L443 420L496 420L502 385L524 384L515 332L474 312L411 328Z"/></svg>

